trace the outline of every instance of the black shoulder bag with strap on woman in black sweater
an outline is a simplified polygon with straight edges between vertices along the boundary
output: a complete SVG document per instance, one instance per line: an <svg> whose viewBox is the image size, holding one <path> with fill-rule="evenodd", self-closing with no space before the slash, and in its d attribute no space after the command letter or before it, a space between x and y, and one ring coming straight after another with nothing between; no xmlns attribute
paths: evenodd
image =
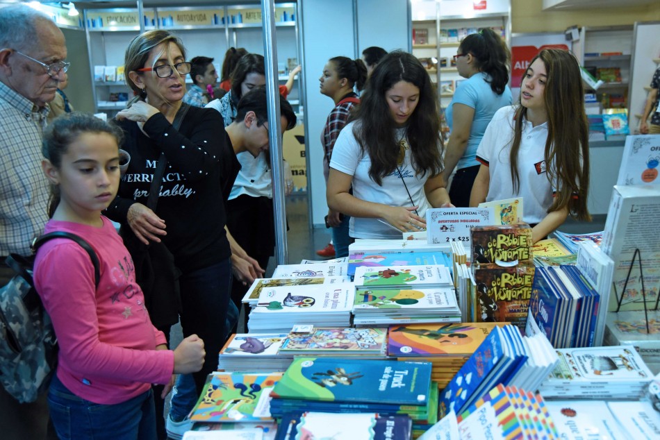
<svg viewBox="0 0 660 440"><path fill-rule="evenodd" d="M179 112L176 113L172 126L177 130L179 130L188 108L187 104L181 104ZM147 208L154 212L156 212L158 192L160 183L163 182L166 165L165 153L161 153L147 198ZM179 322L181 313L181 290L179 289L181 270L174 264L174 255L163 242L151 242L149 245L140 242L128 225L123 225L119 234L124 239L124 245L133 258L135 282L140 285L142 293L145 295L145 305L149 311L151 323L156 328L176 324Z"/></svg>

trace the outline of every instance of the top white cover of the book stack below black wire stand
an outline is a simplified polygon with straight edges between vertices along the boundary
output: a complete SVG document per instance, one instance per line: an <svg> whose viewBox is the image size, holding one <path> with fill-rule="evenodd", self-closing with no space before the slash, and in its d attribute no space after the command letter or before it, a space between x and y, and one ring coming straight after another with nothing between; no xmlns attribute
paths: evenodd
<svg viewBox="0 0 660 440"><path fill-rule="evenodd" d="M653 374L633 346L558 348L559 364L544 382L650 381Z"/></svg>

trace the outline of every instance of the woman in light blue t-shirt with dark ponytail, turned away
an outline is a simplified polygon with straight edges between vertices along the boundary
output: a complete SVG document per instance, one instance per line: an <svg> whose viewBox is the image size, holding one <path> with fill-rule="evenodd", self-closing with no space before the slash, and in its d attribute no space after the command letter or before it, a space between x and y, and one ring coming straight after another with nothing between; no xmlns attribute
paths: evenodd
<svg viewBox="0 0 660 440"><path fill-rule="evenodd" d="M468 35L461 41L454 56L456 69L467 81L456 87L452 102L445 110L451 128L445 155L443 178L456 169L449 187L449 198L459 208L470 205L472 183L479 172L475 158L477 146L493 115L505 105L511 105L509 82L509 49L492 29Z"/></svg>

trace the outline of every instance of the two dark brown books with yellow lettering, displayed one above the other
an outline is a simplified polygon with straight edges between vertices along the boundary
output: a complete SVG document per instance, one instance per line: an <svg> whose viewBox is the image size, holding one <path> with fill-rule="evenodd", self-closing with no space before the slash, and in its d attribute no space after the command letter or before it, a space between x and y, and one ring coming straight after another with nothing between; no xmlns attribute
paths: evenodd
<svg viewBox="0 0 660 440"><path fill-rule="evenodd" d="M509 322L525 329L534 280L531 228L526 223L470 228L475 291L472 322Z"/></svg>

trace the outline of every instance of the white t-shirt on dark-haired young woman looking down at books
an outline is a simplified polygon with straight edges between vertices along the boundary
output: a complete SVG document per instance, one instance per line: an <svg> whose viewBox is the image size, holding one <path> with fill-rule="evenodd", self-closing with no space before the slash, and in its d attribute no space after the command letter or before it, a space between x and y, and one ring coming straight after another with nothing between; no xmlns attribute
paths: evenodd
<svg viewBox="0 0 660 440"><path fill-rule="evenodd" d="M405 138L405 129L399 128L395 136L402 139L406 145L404 162L399 166L399 171L383 177L382 184L377 185L370 177L371 158L363 153L353 135L355 122L347 124L339 133L335 142L330 160L330 167L344 174L353 176L353 195L364 201L382 203L388 206L415 206L419 205L418 213L424 217L427 209L431 208L424 193L424 183L430 177L429 174L416 176L415 169L411 165L411 152L408 140ZM404 181L410 192L406 192ZM413 203L411 203L411 198ZM402 232L393 227L381 223L378 219L351 217L349 235L354 238L401 238Z"/></svg>

